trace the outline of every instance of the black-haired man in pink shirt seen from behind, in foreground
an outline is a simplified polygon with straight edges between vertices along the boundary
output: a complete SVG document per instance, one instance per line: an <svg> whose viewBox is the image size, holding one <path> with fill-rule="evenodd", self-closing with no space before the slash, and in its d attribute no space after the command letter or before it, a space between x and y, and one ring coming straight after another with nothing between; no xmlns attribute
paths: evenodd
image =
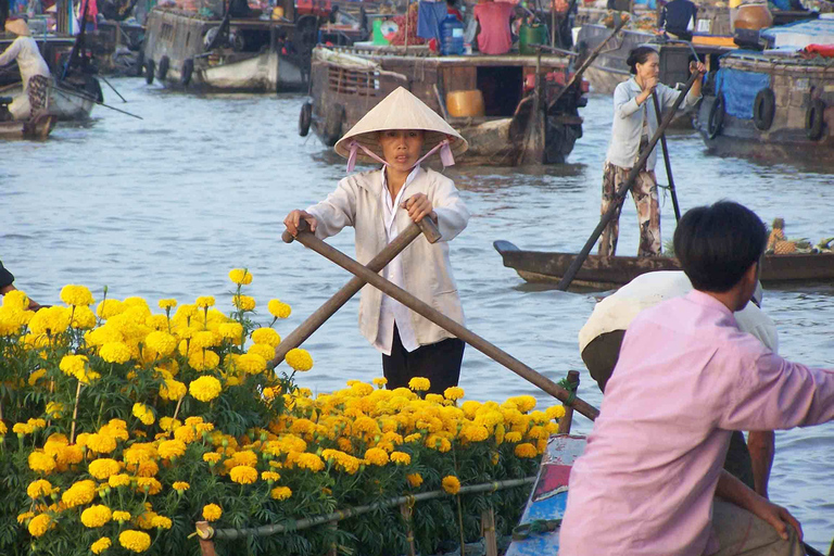
<svg viewBox="0 0 834 556"><path fill-rule="evenodd" d="M736 325L766 243L737 203L681 219L674 252L695 290L629 326L570 475L561 556L805 554L796 519L721 469L733 430L834 419L834 371L789 363Z"/></svg>

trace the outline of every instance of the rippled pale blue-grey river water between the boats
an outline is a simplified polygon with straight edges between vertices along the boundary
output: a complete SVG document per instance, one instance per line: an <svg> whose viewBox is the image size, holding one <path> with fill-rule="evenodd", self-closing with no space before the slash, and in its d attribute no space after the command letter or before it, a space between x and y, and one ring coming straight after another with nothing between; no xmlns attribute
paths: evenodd
<svg viewBox="0 0 834 556"><path fill-rule="evenodd" d="M263 321L269 299L292 305L292 316L277 326L286 334L350 279L316 253L280 241L283 216L323 199L344 176L341 159L316 138L298 136L302 96L198 97L138 78L112 83L128 102L105 88L106 102L143 121L97 108L90 123L59 126L47 142L0 143L0 257L20 288L41 303L59 302L66 283L86 285L97 299L106 285L110 296L141 295L152 305L215 295L229 311L227 273L248 267ZM568 164L447 170L472 213L452 242L469 328L554 380L584 368L577 333L595 296L525 285L502 266L492 242L582 247L598 222L610 99L592 96L582 115L584 137ZM834 236L834 178L824 166L716 157L694 131L671 135L669 146L683 210L733 199L766 222L784 217L791 238ZM662 175L658 168L665 184ZM668 199L662 223L669 239ZM353 255L352 230L330 242ZM636 253L636 213L627 200L619 252ZM834 366L832 293L832 286L766 292L763 308L779 326L784 356ZM357 306L352 300L305 344L316 365L303 386L326 392L381 376L379 354L357 330ZM532 394L552 403L471 348L460 386L482 401ZM601 402L584 370L580 395ZM574 430L589 431L590 421L577 417ZM834 535L832 456L832 424L776 435L771 498L801 520L806 540L822 552Z"/></svg>

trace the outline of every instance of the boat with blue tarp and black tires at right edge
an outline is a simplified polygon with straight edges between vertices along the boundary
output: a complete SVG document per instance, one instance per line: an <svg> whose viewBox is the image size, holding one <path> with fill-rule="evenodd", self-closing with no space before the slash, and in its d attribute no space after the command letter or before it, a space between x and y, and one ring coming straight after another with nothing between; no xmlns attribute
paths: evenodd
<svg viewBox="0 0 834 556"><path fill-rule="evenodd" d="M797 52L817 40L811 31L816 29L830 37L834 21L780 27L775 35L793 37L793 52L733 52L721 59L697 115L697 129L711 151L780 161L830 161L834 153L834 114L829 108L834 105L832 59ZM775 47L783 47L779 39Z"/></svg>

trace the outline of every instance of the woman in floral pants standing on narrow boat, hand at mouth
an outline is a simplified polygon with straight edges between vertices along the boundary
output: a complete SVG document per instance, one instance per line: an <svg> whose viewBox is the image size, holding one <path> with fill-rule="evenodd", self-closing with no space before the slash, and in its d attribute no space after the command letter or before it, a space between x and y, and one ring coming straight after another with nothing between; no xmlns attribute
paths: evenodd
<svg viewBox="0 0 834 556"><path fill-rule="evenodd" d="M681 91L667 87L658 81L660 74L660 56L650 47L637 47L629 53L627 61L632 77L617 86L614 91L614 125L611 126L611 142L605 159L603 169L603 205L602 214L615 202L617 190L627 180L631 168L637 162L640 153L648 146L648 140L655 135L658 122L655 114L652 93L657 94L660 110L674 104ZM706 73L700 62L691 62L690 72ZM681 109L694 106L700 99L700 79L696 79L688 94L681 103ZM637 206L640 223L640 248L637 256L655 256L660 254L660 206L657 201L657 179L655 163L657 162L657 146L649 154L645 167L641 168L631 189L631 197ZM614 256L617 251L617 237L620 231L620 211L603 230L599 240L599 255Z"/></svg>

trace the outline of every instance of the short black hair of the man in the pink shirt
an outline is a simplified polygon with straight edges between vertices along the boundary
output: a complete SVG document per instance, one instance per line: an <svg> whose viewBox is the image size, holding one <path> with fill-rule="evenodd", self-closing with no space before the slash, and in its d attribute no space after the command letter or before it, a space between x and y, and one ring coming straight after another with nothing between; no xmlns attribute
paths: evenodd
<svg viewBox="0 0 834 556"><path fill-rule="evenodd" d="M732 201L697 206L674 230L674 254L696 290L731 290L768 243L768 229L756 213Z"/></svg>

